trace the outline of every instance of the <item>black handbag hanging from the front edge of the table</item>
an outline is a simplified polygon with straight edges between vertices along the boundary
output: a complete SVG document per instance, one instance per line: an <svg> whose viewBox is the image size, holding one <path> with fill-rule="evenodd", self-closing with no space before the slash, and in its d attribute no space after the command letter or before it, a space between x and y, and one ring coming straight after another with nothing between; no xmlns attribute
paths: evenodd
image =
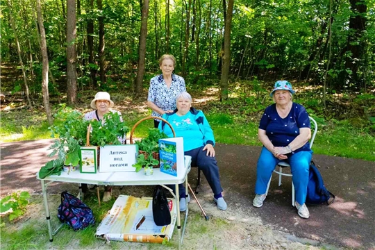
<svg viewBox="0 0 375 250"><path fill-rule="evenodd" d="M153 221L157 226L171 224L171 212L169 211L168 200L163 187L160 185L156 185L153 189L152 215Z"/></svg>

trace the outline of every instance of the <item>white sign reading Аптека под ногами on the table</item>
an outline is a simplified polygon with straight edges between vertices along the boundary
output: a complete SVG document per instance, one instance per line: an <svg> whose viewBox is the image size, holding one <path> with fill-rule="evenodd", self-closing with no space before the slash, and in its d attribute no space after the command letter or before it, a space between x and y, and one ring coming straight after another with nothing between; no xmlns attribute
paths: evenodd
<svg viewBox="0 0 375 250"><path fill-rule="evenodd" d="M105 145L100 147L99 172L134 172L138 145Z"/></svg>

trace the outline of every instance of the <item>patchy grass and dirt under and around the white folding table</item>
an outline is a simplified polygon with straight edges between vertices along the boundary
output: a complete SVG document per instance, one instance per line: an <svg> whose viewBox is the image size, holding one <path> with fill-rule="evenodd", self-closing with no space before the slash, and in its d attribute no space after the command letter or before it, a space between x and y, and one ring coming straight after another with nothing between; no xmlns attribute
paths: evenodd
<svg viewBox="0 0 375 250"><path fill-rule="evenodd" d="M143 188L142 188L143 187ZM148 191L147 186L138 186L138 190ZM130 190L128 190L130 191ZM102 195L102 194L101 194ZM60 205L59 194L49 194L49 210L51 213L51 225L54 230L59 224L57 208ZM47 222L44 217L44 205L41 194L32 195L31 203L28 205L26 215L16 221L9 222L6 217L1 217L3 226L0 228L1 249L171 249L178 248L178 232L174 231L171 241L163 244L150 244L141 242L116 242L111 241L106 244L104 240L94 237L94 233L102 219L112 208L115 199L107 203L101 203L101 208L97 201L96 194L90 192L84 202L92 208L95 217L95 224L81 231L73 231L67 225L60 228L57 235L53 236L53 242L49 242ZM192 205L194 206L194 205ZM183 225L184 216L181 216ZM233 225L232 225L233 226ZM206 221L201 216L200 210L190 210L188 224L185 230L183 249L200 249L201 244L214 246L217 240L217 233L231 231L231 224L219 217L210 217ZM223 239L222 239L223 240ZM224 239L225 240L225 239ZM207 243L208 242L208 243ZM192 248L190 248L192 247ZM206 248L205 248L206 249Z"/></svg>

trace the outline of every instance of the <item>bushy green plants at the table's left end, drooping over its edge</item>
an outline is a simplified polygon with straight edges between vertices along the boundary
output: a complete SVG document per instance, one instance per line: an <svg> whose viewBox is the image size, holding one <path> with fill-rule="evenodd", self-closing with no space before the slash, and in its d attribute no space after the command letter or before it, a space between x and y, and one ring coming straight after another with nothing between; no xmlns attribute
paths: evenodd
<svg viewBox="0 0 375 250"><path fill-rule="evenodd" d="M79 163L79 149L84 145L85 134L88 129L88 121L83 119L83 114L72 108L61 108L54 115L53 126L49 127L51 138L56 138L49 149L53 151L49 157L57 155L57 158L50 160L40 168L40 178L51 174L60 175L63 165L76 166Z"/></svg>

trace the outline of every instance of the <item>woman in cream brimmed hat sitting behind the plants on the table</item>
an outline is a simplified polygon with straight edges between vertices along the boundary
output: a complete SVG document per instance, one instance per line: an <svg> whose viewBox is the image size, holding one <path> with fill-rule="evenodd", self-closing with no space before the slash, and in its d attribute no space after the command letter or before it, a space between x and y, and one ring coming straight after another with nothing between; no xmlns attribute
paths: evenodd
<svg viewBox="0 0 375 250"><path fill-rule="evenodd" d="M113 103L113 101L110 99L110 94L108 94L108 92L97 92L97 94L95 94L95 98L91 101L90 106L94 110L85 113L85 120L92 121L92 119L95 119L100 122L103 121L103 116L106 115L106 113L112 112L118 113L121 122L123 122L121 113L119 113L119 111L112 109L113 106L115 106L115 103ZM122 144L124 144L126 142L126 138L119 138L119 141L122 142ZM87 192L88 185L82 184L82 190L83 192ZM104 194L102 198L103 202L110 201L110 199L112 198L111 192L112 188L109 185L106 185L104 188Z"/></svg>

